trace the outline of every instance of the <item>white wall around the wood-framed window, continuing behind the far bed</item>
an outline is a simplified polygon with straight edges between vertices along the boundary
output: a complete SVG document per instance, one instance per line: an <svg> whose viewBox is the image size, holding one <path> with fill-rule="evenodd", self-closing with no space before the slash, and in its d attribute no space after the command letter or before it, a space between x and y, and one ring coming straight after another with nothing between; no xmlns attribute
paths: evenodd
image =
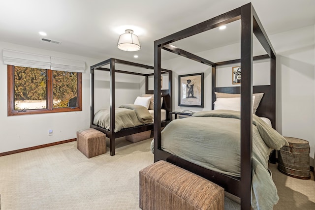
<svg viewBox="0 0 315 210"><path fill-rule="evenodd" d="M86 72L82 74L82 111L48 113L23 116L7 116L7 66L3 64L2 49L11 49L34 54L62 57L73 60L84 60ZM76 131L90 126L90 66L103 60L95 60L86 57L63 54L53 51L46 51L6 42L0 42L0 153L12 150L19 150L38 145L59 142L76 138ZM109 77L109 73L108 77ZM118 87L116 91L116 105L122 103L133 103L139 94L139 78L116 75ZM104 104L96 104L96 108L109 107L109 85L108 90L101 91L99 88L106 86L106 80L96 78L95 97L103 98ZM125 86L123 81L130 84ZM108 78L107 78L107 81ZM107 82L109 84L109 82ZM98 95L99 93L99 95ZM103 101L99 100L98 103ZM48 131L53 129L53 135L49 136Z"/></svg>

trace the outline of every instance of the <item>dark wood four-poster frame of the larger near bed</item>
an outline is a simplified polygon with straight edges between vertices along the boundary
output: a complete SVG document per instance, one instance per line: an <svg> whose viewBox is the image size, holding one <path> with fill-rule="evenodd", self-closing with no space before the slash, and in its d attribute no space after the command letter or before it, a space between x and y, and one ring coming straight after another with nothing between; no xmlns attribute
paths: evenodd
<svg viewBox="0 0 315 210"><path fill-rule="evenodd" d="M241 20L241 59L229 60L224 62L212 62L187 51L170 45L172 42L187 38L200 32L211 30L230 22ZM253 33L267 52L267 55L252 56L252 39ZM241 198L241 209L251 209L251 184L252 184L252 93L264 92L256 114L261 117L267 117L272 121L275 127L275 110L276 110L276 53L263 29L258 16L248 3L239 8L221 14L215 18L209 19L185 30L178 31L174 34L156 40L154 43L154 88L155 90L155 110L158 110L160 94L160 73L161 73L161 49L184 56L188 59L212 66L212 97L215 101L214 91L241 93L241 178L235 178L211 171L201 166L195 165L168 152L161 150L161 127L159 123L154 124L155 152L154 161L165 160L187 169L201 177L221 185L225 191ZM259 59L270 60L270 85L252 87L252 61ZM216 88L216 66L241 63L242 66L242 83L241 87ZM155 112L155 120L159 121L158 112ZM224 158L224 156L222 156Z"/></svg>

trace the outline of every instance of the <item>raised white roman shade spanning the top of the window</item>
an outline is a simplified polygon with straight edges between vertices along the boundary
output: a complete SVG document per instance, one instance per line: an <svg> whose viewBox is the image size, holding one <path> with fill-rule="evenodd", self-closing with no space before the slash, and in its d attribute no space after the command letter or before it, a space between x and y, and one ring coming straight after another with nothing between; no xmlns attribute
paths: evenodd
<svg viewBox="0 0 315 210"><path fill-rule="evenodd" d="M85 72L85 61L82 60L69 60L8 49L3 49L3 63L56 71Z"/></svg>

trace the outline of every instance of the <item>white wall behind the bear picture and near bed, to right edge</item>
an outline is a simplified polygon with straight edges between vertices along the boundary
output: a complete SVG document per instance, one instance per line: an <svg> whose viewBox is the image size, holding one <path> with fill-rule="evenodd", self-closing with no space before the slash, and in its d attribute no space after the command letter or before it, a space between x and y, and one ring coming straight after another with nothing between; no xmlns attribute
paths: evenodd
<svg viewBox="0 0 315 210"><path fill-rule="evenodd" d="M315 26L304 27L269 36L277 53L277 90L276 90L276 129L284 136L305 139L310 142L311 165L315 152ZM256 43L256 42L254 42ZM235 59L240 45L233 44L218 49L201 52L197 55L211 61ZM259 46L256 47L260 51ZM227 54L228 52L228 54ZM254 53L254 55L259 53ZM226 56L228 58L226 59ZM238 55L239 56L239 55ZM220 67L218 87L232 86L231 70L233 65ZM270 62L257 61L253 64L253 84L268 85L270 81L266 69ZM162 62L162 68L173 70L173 110L211 110L211 68L180 57ZM178 106L178 75L205 73L204 108ZM226 79L224 79L226 78Z"/></svg>

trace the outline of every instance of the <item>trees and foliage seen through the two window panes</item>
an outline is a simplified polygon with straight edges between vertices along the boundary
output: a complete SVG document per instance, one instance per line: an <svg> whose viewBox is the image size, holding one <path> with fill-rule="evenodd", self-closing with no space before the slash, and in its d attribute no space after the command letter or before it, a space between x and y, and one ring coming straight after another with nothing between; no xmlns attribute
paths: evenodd
<svg viewBox="0 0 315 210"><path fill-rule="evenodd" d="M76 107L77 73L53 71L53 108ZM47 99L47 70L15 66L14 100L39 101ZM46 103L46 101L44 101ZM21 110L15 103L15 110ZM26 107L24 109L30 109ZM46 109L46 105L31 109Z"/></svg>

